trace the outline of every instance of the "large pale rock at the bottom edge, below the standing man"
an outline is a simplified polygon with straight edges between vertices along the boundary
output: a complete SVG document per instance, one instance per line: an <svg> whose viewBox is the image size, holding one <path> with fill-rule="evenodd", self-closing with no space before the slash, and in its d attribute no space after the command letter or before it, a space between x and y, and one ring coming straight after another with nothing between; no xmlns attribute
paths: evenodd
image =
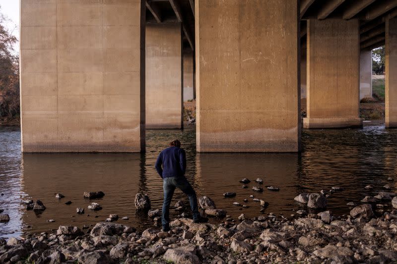
<svg viewBox="0 0 397 264"><path fill-rule="evenodd" d="M194 245L187 245L174 249L168 249L164 256L164 260L172 261L176 264L200 264L197 256L197 248Z"/></svg>

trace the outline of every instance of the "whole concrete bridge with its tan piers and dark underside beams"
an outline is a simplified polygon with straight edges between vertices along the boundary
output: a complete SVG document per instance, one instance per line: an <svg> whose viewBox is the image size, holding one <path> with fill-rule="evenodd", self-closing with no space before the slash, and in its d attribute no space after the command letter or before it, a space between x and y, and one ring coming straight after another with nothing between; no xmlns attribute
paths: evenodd
<svg viewBox="0 0 397 264"><path fill-rule="evenodd" d="M382 45L397 127L396 16L397 0L21 0L22 151L144 151L145 128L183 128L185 91L199 152L298 152L301 88L304 127L360 126Z"/></svg>

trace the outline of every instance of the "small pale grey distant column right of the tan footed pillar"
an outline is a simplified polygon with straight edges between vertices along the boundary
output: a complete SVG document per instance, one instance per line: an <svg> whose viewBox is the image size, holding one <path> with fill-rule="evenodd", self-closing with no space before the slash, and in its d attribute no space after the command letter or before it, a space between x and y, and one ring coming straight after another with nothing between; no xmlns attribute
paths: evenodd
<svg viewBox="0 0 397 264"><path fill-rule="evenodd" d="M372 51L360 52L360 100L372 97Z"/></svg>

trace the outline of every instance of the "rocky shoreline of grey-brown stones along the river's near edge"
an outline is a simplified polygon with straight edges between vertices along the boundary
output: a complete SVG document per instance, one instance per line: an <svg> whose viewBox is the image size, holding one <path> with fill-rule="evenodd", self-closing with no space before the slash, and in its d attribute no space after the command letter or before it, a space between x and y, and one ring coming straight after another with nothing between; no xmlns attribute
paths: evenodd
<svg viewBox="0 0 397 264"><path fill-rule="evenodd" d="M159 227L137 232L113 222L60 226L23 239L0 239L0 263L391 263L397 260L396 214L385 211L374 218L372 205L362 204L344 217L329 211L295 219L241 215L220 224L179 218L169 232ZM157 215L149 211L149 217Z"/></svg>

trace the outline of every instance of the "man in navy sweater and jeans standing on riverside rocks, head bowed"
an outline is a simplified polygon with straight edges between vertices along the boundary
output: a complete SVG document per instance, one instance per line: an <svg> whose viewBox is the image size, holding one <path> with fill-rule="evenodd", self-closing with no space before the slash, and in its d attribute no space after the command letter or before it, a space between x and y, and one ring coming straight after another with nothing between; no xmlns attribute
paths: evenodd
<svg viewBox="0 0 397 264"><path fill-rule="evenodd" d="M160 153L155 165L157 173L163 179L164 203L161 221L163 231L166 232L170 230L170 204L176 188L180 189L189 197L194 222L208 221L208 218L200 216L196 192L185 178L186 154L181 149L181 142L174 140L169 145L169 148Z"/></svg>

